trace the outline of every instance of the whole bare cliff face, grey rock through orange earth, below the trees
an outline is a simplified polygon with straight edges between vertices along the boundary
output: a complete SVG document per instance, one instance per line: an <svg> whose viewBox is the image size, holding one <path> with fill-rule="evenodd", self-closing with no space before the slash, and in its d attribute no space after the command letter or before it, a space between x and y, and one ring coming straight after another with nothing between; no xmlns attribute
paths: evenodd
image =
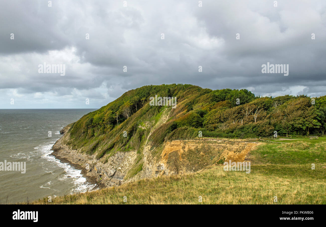
<svg viewBox="0 0 326 227"><path fill-rule="evenodd" d="M160 121L151 131L166 122L168 114L162 114ZM118 151L98 160L96 154L87 155L81 153L80 149L73 150L67 145L68 129L64 128L64 136L53 145L52 154L81 169L88 180L96 182L100 187L120 185L142 178L196 172L224 160L243 162L248 152L258 145L257 142L241 140L198 138L170 140L162 147L153 148L148 141L151 135L149 134L142 149L141 160L136 151ZM107 161L104 161L106 159ZM135 165L139 162L142 163L141 168Z"/></svg>

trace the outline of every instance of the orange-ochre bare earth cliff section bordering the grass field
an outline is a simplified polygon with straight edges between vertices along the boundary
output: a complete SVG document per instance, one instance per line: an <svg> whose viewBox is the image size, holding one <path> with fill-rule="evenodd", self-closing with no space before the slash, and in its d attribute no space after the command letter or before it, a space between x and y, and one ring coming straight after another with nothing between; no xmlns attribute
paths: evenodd
<svg viewBox="0 0 326 227"><path fill-rule="evenodd" d="M243 162L256 145L257 143L218 139L172 140L166 142L159 162L168 175L196 172L220 160Z"/></svg>

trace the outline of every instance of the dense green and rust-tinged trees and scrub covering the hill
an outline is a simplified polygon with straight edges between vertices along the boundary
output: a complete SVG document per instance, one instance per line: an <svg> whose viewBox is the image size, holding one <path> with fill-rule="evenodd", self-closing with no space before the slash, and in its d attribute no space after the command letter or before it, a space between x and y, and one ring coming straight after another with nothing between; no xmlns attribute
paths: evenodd
<svg viewBox="0 0 326 227"><path fill-rule="evenodd" d="M149 98L176 97L176 108L150 106ZM164 122L157 124L163 112ZM169 139L249 138L278 134L323 134L326 97L311 104L306 96L255 97L250 91L211 90L193 85L144 86L130 90L69 129L67 145L86 154L108 156L117 151L151 149ZM153 128L155 127L156 128ZM159 127L158 127L159 126ZM154 130L155 129L155 130ZM160 148L162 149L162 147Z"/></svg>

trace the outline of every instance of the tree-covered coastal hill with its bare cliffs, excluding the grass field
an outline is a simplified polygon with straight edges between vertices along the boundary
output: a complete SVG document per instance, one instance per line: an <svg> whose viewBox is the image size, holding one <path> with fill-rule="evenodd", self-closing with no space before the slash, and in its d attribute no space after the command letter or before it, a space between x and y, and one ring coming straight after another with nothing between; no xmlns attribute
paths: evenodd
<svg viewBox="0 0 326 227"><path fill-rule="evenodd" d="M258 144L245 138L271 136L275 130L324 130L318 118L323 99L316 98L315 107L306 96L255 97L246 89L182 84L144 86L65 127L52 154L81 169L99 187L197 172L226 160L245 161Z"/></svg>

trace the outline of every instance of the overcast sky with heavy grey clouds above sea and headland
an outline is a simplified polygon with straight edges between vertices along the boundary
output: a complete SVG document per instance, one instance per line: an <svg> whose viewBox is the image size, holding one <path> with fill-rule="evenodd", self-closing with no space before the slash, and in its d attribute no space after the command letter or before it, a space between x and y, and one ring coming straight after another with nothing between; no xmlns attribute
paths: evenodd
<svg viewBox="0 0 326 227"><path fill-rule="evenodd" d="M125 2L2 0L0 109L99 108L172 83L326 95L325 0ZM39 73L44 62L65 75ZM262 73L267 62L289 75Z"/></svg>

